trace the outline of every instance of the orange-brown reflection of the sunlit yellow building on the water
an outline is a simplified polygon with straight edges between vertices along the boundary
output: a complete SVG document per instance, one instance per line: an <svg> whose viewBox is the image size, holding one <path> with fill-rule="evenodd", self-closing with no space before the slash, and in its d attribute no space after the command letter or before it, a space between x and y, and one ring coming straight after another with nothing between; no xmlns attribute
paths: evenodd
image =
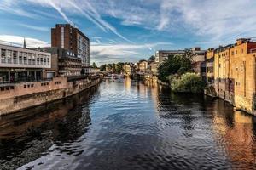
<svg viewBox="0 0 256 170"><path fill-rule="evenodd" d="M256 168L256 117L230 109L218 100L213 104L214 132L234 168Z"/></svg>

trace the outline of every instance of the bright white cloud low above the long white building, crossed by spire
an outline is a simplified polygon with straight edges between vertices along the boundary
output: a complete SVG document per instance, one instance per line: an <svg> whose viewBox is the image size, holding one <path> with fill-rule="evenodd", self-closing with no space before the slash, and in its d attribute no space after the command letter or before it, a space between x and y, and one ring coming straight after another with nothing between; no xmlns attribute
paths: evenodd
<svg viewBox="0 0 256 170"><path fill-rule="evenodd" d="M38 47L50 47L49 42L44 42L32 37L25 37L26 38L26 47L27 48L38 48ZM0 43L5 44L13 44L15 46L22 47L24 42L24 37L20 36L11 36L11 35L0 35Z"/></svg>

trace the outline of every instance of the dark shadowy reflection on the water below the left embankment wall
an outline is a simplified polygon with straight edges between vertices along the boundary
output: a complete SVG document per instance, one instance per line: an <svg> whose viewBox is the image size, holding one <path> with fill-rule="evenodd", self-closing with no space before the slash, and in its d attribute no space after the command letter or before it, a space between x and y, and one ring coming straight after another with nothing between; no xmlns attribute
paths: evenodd
<svg viewBox="0 0 256 170"><path fill-rule="evenodd" d="M0 169L15 169L46 154L53 144L73 142L90 126L97 87L67 99L0 117ZM61 150L67 154L75 150Z"/></svg>

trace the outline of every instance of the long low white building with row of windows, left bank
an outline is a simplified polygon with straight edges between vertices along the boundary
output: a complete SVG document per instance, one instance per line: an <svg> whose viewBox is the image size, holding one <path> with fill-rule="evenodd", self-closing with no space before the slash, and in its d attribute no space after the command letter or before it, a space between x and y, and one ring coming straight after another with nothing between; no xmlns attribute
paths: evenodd
<svg viewBox="0 0 256 170"><path fill-rule="evenodd" d="M49 53L0 44L0 54L0 82L42 79L45 69L51 67Z"/></svg>

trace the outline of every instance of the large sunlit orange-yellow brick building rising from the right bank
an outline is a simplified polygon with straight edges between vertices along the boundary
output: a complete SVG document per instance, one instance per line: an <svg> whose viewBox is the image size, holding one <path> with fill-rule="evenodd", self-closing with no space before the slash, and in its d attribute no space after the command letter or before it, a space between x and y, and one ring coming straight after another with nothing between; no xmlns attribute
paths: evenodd
<svg viewBox="0 0 256 170"><path fill-rule="evenodd" d="M256 42L241 38L214 54L215 89L218 97L255 114Z"/></svg>

